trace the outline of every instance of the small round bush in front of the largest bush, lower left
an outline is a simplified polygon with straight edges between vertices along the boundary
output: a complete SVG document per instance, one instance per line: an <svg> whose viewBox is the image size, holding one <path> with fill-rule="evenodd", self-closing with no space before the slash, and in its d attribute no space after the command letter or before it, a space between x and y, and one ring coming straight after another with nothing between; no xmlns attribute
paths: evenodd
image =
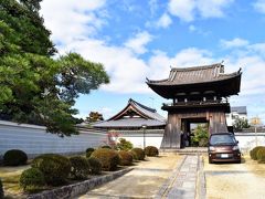
<svg viewBox="0 0 265 199"><path fill-rule="evenodd" d="M45 179L40 169L29 168L21 174L19 182L23 190L30 190L30 188L44 186Z"/></svg>

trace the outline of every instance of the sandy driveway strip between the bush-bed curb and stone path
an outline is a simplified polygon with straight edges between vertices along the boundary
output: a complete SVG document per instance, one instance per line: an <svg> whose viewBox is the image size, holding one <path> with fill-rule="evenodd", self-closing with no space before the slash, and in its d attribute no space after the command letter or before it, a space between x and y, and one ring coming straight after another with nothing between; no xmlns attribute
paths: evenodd
<svg viewBox="0 0 265 199"><path fill-rule="evenodd" d="M153 198L183 157L148 157L125 176L103 185L80 198Z"/></svg>

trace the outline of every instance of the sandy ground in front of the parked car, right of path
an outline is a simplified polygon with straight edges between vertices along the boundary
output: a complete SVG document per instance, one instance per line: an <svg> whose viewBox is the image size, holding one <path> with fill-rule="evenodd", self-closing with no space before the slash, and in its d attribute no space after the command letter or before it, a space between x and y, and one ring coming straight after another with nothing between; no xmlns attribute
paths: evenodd
<svg viewBox="0 0 265 199"><path fill-rule="evenodd" d="M209 165L204 157L204 172L209 199L265 199L265 165L250 157L220 165Z"/></svg>

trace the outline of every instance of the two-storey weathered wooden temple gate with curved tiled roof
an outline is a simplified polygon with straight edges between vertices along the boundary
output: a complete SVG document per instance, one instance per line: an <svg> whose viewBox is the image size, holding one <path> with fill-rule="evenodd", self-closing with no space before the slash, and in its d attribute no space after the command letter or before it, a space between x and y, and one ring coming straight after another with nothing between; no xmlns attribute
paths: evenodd
<svg viewBox="0 0 265 199"><path fill-rule="evenodd" d="M181 134L188 133L189 124L209 124L209 134L227 132L225 114L230 113L227 97L239 94L242 72L224 74L222 63L171 69L169 77L147 84L157 94L171 98L163 104L168 122L160 148L180 148Z"/></svg>

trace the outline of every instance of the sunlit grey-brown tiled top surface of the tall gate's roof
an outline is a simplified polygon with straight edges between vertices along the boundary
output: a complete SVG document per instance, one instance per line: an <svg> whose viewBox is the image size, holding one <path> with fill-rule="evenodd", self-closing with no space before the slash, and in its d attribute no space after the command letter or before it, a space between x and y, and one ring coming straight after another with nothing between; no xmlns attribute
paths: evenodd
<svg viewBox="0 0 265 199"><path fill-rule="evenodd" d="M147 80L147 84L157 85L194 84L226 80L240 74L241 74L240 71L231 74L224 74L224 65L222 65L222 63L216 63L203 66L171 69L168 78L161 81Z"/></svg>

